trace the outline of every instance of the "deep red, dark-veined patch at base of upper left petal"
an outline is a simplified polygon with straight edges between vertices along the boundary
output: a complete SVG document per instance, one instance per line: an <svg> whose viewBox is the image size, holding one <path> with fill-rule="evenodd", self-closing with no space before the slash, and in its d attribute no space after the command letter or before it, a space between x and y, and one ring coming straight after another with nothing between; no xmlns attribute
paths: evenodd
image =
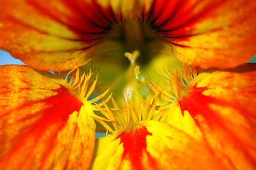
<svg viewBox="0 0 256 170"><path fill-rule="evenodd" d="M67 26L84 41L102 38L113 23L116 23L116 17L118 17L113 14L111 6L103 7L96 1L62 1L62 4L72 12L72 16L58 10L49 10L48 3L45 1L27 1L43 16L48 16L53 21ZM62 17L59 17L60 15Z"/></svg>

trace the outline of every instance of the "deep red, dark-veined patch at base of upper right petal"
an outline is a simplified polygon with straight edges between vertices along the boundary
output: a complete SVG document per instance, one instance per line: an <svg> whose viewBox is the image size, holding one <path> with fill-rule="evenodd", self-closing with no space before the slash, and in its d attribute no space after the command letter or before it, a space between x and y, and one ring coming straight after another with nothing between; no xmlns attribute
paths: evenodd
<svg viewBox="0 0 256 170"><path fill-rule="evenodd" d="M154 1L150 9L148 23L157 29L169 42L189 40L189 34L195 29L196 4L191 1ZM146 18L147 19L147 18ZM189 28L189 29L188 29ZM169 39L171 38L171 39Z"/></svg>

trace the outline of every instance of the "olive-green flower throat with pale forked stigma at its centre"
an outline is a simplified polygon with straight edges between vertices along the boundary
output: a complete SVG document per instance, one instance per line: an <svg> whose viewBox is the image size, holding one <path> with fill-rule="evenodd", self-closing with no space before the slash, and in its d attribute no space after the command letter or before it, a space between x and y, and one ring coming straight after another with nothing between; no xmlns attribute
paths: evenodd
<svg viewBox="0 0 256 170"><path fill-rule="evenodd" d="M97 49L91 64L87 65L100 68L99 91L111 86L111 90L123 94L129 84L133 92L136 92L134 89L147 91L145 79L149 79L148 75L163 72L162 68L169 67L172 60L177 62L162 35L139 20L113 26Z"/></svg>

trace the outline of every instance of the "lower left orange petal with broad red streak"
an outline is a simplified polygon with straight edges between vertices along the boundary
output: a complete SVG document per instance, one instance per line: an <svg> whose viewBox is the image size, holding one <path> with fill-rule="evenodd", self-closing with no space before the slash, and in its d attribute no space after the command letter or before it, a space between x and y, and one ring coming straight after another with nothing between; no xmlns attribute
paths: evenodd
<svg viewBox="0 0 256 170"><path fill-rule="evenodd" d="M0 69L0 169L88 169L92 108L48 72Z"/></svg>

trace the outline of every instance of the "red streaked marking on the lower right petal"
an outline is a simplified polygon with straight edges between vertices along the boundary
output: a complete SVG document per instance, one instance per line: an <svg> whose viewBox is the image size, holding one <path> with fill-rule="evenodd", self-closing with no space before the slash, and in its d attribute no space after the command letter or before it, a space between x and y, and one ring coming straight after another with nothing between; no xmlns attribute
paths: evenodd
<svg viewBox="0 0 256 170"><path fill-rule="evenodd" d="M240 71L242 72L242 70ZM218 111L214 111L213 108L211 108L210 104L221 106L223 108L234 108L245 118L248 118L250 116L250 113L248 113L244 107L241 107L238 104L236 104L235 99L234 101L226 101L225 99L221 100L220 98L217 99L213 96L205 96L202 93L206 90L208 90L207 87L198 88L195 85L191 92L189 92L189 94L186 97L184 97L182 101L179 102L182 114L184 114L184 111L188 111L191 117L194 119L196 125L198 125L198 127L204 132L204 125L202 125L201 122L196 117L196 115L201 115L206 121L208 129L212 130L211 132L218 130L219 138L217 137L216 140L218 140L221 143L221 145L226 147L227 142L229 142L229 146L233 145L233 147L239 150L241 154L245 155L245 160L255 167L255 160L250 155L250 152L248 152L248 148L250 147L248 147L245 144L244 140L240 139L236 134L237 132L239 132L239 129L243 130L243 126L241 125L234 127L235 129L237 129L235 131L231 130L230 127L226 125L226 119L221 118Z"/></svg>

